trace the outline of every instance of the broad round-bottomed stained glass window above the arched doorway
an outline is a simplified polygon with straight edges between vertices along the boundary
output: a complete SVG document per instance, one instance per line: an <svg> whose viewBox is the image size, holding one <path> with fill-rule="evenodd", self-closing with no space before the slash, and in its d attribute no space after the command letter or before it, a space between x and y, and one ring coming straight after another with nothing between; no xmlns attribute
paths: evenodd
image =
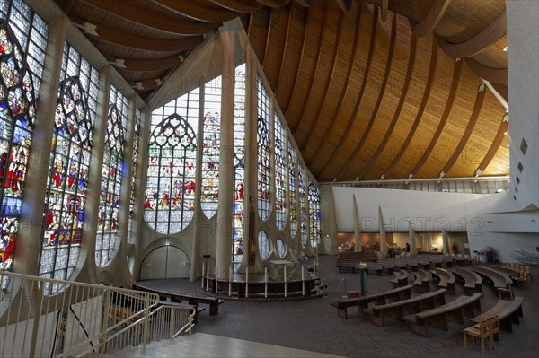
<svg viewBox="0 0 539 358"><path fill-rule="evenodd" d="M157 232L180 232L193 218L198 118L198 88L152 113L144 215Z"/></svg>

